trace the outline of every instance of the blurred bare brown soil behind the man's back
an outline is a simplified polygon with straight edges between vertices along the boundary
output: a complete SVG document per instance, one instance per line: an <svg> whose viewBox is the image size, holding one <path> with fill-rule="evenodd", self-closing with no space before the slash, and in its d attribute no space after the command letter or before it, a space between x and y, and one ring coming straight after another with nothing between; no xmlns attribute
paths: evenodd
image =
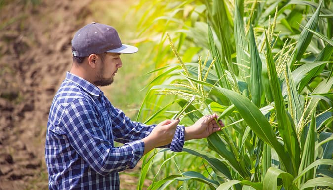
<svg viewBox="0 0 333 190"><path fill-rule="evenodd" d="M0 0L0 190L47 189L50 104L70 69L71 39L86 24L91 1ZM121 176L121 189L133 184Z"/></svg>

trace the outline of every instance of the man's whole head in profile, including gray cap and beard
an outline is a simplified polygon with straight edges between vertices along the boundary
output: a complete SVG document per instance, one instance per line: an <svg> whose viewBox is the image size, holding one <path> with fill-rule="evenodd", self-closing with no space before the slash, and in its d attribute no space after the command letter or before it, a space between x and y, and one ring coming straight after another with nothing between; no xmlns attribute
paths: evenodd
<svg viewBox="0 0 333 190"><path fill-rule="evenodd" d="M113 27L93 22L78 30L72 39L71 72L96 86L109 85L122 66L120 54L137 51L137 47L122 44Z"/></svg>

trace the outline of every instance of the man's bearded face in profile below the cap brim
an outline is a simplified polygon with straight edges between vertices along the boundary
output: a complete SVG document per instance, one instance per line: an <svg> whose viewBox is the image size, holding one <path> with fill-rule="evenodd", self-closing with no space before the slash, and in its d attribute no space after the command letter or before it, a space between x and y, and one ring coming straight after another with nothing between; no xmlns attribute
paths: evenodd
<svg viewBox="0 0 333 190"><path fill-rule="evenodd" d="M96 86L107 86L113 82L113 77L118 71L118 68L122 67L122 60L118 53L106 53L105 59L100 59L100 66L96 73L96 80L94 84Z"/></svg>

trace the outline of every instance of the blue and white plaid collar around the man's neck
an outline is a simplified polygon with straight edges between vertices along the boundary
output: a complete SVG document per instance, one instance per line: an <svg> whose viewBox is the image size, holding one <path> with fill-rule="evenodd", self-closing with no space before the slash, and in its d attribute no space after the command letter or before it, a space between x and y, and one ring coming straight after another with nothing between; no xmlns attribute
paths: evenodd
<svg viewBox="0 0 333 190"><path fill-rule="evenodd" d="M89 81L73 74L70 72L66 72L66 79L65 80L69 80L75 84L77 84L78 86L80 86L81 88L83 88L85 91L87 91L89 94L94 95L94 96L99 96L99 95L103 95L103 92L96 87L95 85L93 85L92 83L90 83Z"/></svg>

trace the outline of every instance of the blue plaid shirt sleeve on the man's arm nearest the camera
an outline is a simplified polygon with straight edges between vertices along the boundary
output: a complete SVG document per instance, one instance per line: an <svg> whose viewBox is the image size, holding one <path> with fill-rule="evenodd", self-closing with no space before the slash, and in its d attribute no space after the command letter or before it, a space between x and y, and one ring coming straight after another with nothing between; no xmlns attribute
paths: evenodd
<svg viewBox="0 0 333 190"><path fill-rule="evenodd" d="M77 99L70 103L61 123L75 151L101 175L134 168L144 152L143 141L113 147L91 103Z"/></svg>

